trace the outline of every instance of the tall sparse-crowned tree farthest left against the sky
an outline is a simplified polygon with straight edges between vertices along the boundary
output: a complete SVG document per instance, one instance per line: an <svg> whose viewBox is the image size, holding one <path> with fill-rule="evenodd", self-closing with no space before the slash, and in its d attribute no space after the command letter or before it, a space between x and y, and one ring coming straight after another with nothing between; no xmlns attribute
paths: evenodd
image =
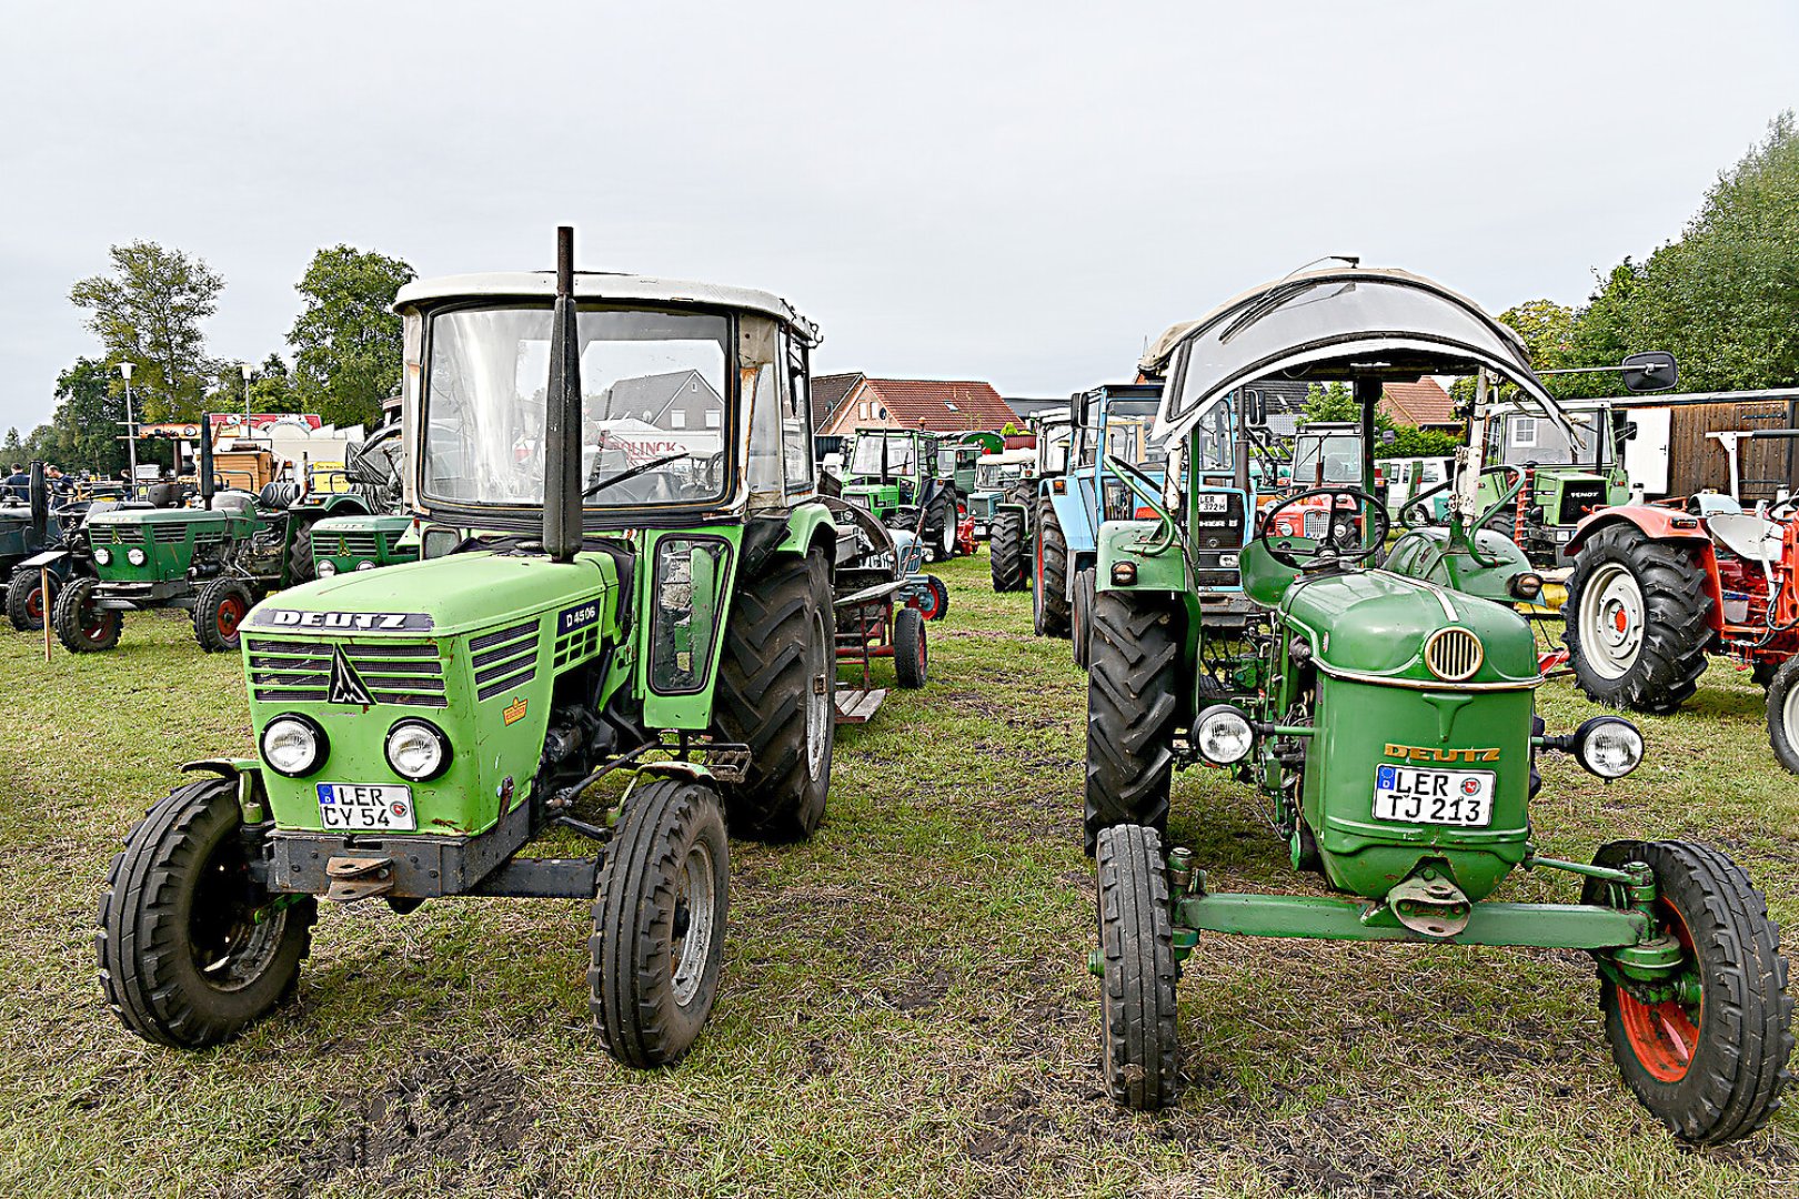
<svg viewBox="0 0 1799 1199"><path fill-rule="evenodd" d="M200 322L218 309L225 279L180 250L133 241L110 250L112 273L68 289L112 361L137 367L131 390L151 421L198 417L210 363Z"/></svg>

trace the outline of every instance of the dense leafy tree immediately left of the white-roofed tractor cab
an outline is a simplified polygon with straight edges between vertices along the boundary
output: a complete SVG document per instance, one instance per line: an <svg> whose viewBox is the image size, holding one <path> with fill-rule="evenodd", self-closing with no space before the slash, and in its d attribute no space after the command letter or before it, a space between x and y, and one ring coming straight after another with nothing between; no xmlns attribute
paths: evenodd
<svg viewBox="0 0 1799 1199"><path fill-rule="evenodd" d="M372 250L331 246L295 284L306 307L288 333L297 394L306 412L336 424L376 424L399 390L401 333L394 293L416 277Z"/></svg>

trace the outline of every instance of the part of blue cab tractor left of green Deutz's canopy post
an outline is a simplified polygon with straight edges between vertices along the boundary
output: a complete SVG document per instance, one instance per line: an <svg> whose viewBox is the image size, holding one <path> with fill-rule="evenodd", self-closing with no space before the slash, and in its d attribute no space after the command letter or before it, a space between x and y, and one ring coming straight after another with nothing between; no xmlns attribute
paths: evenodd
<svg viewBox="0 0 1799 1199"><path fill-rule="evenodd" d="M1099 525L1130 520L1139 509L1108 460L1160 478L1164 453L1151 437L1160 395L1159 383L1115 383L1070 395L1069 469L1038 482L1034 627L1038 636L1067 636L1081 667L1092 629Z"/></svg>

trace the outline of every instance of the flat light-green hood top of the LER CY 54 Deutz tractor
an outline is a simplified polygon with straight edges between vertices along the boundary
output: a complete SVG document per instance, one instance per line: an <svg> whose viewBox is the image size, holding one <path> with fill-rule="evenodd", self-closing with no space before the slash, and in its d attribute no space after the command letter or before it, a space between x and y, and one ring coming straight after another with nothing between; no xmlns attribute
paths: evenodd
<svg viewBox="0 0 1799 1199"><path fill-rule="evenodd" d="M396 633L452 636L556 604L586 604L617 586L603 554L572 563L509 554L450 554L423 563L315 579L257 604L248 633Z"/></svg>

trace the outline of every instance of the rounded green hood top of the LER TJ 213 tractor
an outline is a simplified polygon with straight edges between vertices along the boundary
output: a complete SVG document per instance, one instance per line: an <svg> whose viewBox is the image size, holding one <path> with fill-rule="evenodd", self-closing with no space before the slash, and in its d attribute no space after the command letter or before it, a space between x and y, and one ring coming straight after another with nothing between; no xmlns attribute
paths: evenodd
<svg viewBox="0 0 1799 1199"><path fill-rule="evenodd" d="M1385 570L1297 579L1283 606L1306 629L1313 660L1326 674L1445 688L1542 681L1536 642L1524 617L1418 579ZM1427 644L1443 629L1466 629L1481 644L1479 667L1466 678L1445 678L1427 660ZM1439 665L1455 662L1432 658ZM1466 662L1468 656L1459 660Z"/></svg>

